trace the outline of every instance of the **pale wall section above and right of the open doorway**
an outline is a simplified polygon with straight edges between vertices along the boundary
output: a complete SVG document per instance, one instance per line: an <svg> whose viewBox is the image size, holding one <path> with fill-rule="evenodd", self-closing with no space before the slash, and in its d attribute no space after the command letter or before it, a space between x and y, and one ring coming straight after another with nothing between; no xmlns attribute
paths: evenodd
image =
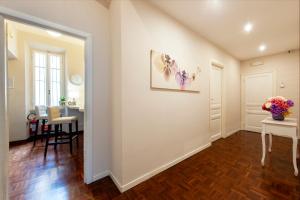
<svg viewBox="0 0 300 200"><path fill-rule="evenodd" d="M0 6L92 34L93 175L100 178L102 173L109 169L110 162L109 11L96 1L89 0L1 0Z"/></svg>

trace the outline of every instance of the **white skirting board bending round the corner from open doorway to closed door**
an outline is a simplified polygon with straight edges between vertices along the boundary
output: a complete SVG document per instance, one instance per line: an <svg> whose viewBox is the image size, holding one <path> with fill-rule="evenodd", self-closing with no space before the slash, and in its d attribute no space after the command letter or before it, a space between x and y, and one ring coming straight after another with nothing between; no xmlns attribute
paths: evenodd
<svg viewBox="0 0 300 200"><path fill-rule="evenodd" d="M200 151L202 151L202 150L204 150L204 149L206 149L206 148L208 148L210 146L211 146L211 142L209 142L208 144L205 144L205 145L203 145L203 146L201 146L201 147L199 147L199 148L197 148L197 149L195 149L193 151L190 151L190 152L186 153L185 155L180 156L179 158L176 158L175 160L173 160L173 161L171 161L169 163L166 163L166 164L164 164L164 165L162 165L162 166L154 169L153 171L147 172L144 175L142 175L142 176L134 179L133 181L130 181L129 183L127 183L125 185L121 185L120 182L118 181L118 179L113 175L113 173L111 171L108 171L108 170L104 171L102 173L94 175L93 179L94 179L94 181L97 181L97 180L99 180L101 178L104 178L106 176L110 176L111 179L113 180L114 184L119 189L119 191L121 193L123 193L126 190L129 190L130 188L132 188L132 187L134 187L134 186L136 186L136 185L138 185L138 184L140 184L140 183L142 183L142 182L150 179L152 176L155 176L156 174L158 174L158 173L160 173L160 172L162 172L162 171L164 171L164 170L166 170L166 169L168 169L168 168L170 168L170 167L178 164L179 162L181 162L181 161L183 161L183 160L185 160L185 159L187 159L187 158L195 155L196 153L199 153Z"/></svg>

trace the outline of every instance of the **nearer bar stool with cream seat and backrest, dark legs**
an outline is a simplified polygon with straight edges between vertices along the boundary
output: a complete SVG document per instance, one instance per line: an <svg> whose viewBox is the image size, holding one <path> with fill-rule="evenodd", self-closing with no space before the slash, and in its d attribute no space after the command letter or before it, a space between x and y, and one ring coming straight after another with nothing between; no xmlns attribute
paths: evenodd
<svg viewBox="0 0 300 200"><path fill-rule="evenodd" d="M72 131L72 125L75 123L76 132ZM63 132L59 130L59 127L63 124L69 125L69 133ZM51 137L51 128L54 126L54 142L50 142ZM47 150L49 145L54 145L54 149L58 144L69 144L70 145L70 153L73 152L73 140L76 139L77 147L78 147L78 119L76 116L66 116L62 117L60 113L59 107L48 107L48 134L46 137L46 145L44 157L47 156Z"/></svg>

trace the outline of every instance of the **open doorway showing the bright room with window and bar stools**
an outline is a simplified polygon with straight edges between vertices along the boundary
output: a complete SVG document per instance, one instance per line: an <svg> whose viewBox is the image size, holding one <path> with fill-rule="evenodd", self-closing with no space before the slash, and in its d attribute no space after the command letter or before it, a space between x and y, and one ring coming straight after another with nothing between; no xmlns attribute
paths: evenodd
<svg viewBox="0 0 300 200"><path fill-rule="evenodd" d="M83 174L84 40L16 21L5 24L9 197L34 198L30 188L35 188L46 199ZM52 125L51 130L49 109L60 113L55 120L76 120L59 124L59 131ZM53 171L56 178L47 176ZM64 184L54 187L58 181Z"/></svg>

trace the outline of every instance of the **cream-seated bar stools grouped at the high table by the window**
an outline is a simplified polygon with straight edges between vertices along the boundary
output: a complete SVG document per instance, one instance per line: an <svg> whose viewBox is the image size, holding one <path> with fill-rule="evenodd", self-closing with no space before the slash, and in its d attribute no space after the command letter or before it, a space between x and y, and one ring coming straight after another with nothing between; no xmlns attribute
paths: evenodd
<svg viewBox="0 0 300 200"><path fill-rule="evenodd" d="M70 115L73 114L73 115ZM44 158L47 157L49 146L69 145L70 154L73 154L73 143L78 148L79 134L83 132L80 124L83 123L83 109L71 106L35 106L32 116L32 142L33 148L37 140L44 145Z"/></svg>

